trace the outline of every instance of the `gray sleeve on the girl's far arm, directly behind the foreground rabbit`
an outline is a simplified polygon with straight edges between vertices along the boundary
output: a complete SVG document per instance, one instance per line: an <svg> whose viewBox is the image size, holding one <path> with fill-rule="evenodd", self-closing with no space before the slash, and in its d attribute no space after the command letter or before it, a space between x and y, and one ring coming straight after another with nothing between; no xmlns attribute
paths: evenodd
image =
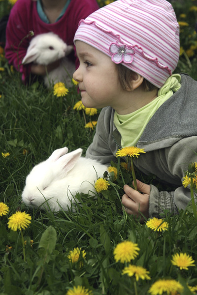
<svg viewBox="0 0 197 295"><path fill-rule="evenodd" d="M114 154L117 146L113 140L113 114L110 107L103 108L97 122L96 133L92 144L86 151L86 157L98 160L102 164L116 161Z"/></svg>

